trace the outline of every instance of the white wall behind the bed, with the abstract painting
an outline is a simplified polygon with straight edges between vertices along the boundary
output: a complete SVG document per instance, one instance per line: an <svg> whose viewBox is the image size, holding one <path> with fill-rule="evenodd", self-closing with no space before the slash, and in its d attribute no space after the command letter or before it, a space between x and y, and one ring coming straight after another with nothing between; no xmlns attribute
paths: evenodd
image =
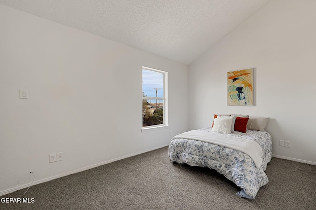
<svg viewBox="0 0 316 210"><path fill-rule="evenodd" d="M210 126L215 113L270 117L273 154L316 164L315 8L315 0L271 0L192 63L189 128ZM255 106L227 106L227 72L248 67Z"/></svg>

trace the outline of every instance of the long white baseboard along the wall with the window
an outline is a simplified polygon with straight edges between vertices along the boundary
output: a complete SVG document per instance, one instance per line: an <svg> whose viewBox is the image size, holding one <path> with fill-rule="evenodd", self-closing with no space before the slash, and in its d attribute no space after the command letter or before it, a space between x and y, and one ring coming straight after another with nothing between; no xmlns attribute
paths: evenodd
<svg viewBox="0 0 316 210"><path fill-rule="evenodd" d="M42 180L37 180L37 181L33 182L32 186L36 185L36 184L40 184L40 183L46 182L46 181L55 180L55 179L58 179L58 178L61 178L61 177L66 177L66 176L71 175L71 174L76 174L76 173L79 173L81 171L85 171L85 170L92 169L92 168L95 168L95 167L98 167L98 166L102 166L102 165L105 165L105 164L108 164L108 163L112 163L112 162L115 162L115 161L118 161L118 160L121 160L121 159L125 159L127 157L132 157L132 156L135 156L135 155L138 155L138 154L142 154L142 153L145 153L145 152L148 152L148 151L157 150L159 148L163 148L163 147L166 147L168 145L169 144L161 145L161 146L158 146L158 147L153 148L153 149L143 150L143 151L136 152L136 153L133 153L133 154L128 154L128 155L121 156L121 157L118 157L118 158L114 158L114 159L111 159L111 160L108 160L108 161L104 161L104 162L97 163L97 164L94 164L94 165L86 166L86 167L83 167L83 168L80 168L80 169L77 169L77 170L74 170L74 171L69 171L69 172L66 172L66 173L63 173L63 174L59 174L59 175L56 175L56 176L53 176L53 177L45 178L45 179L42 179ZM20 189L23 189L23 188L26 188L26 187L29 187L30 184L31 184L31 182L27 183L27 184L19 185L17 187L12 187L12 188L9 188L9 189L6 189L6 190L2 190L2 191L0 191L0 196L9 194L11 192L15 192L17 190L20 190Z"/></svg>

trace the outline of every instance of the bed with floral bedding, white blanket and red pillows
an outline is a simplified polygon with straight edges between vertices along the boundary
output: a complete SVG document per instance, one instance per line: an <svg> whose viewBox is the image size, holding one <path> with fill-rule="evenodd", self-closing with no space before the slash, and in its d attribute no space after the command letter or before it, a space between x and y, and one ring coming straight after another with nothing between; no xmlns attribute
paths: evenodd
<svg viewBox="0 0 316 210"><path fill-rule="evenodd" d="M241 130L237 128L240 120L243 121ZM256 116L214 115L212 127L188 131L171 139L170 160L214 169L241 188L236 195L254 199L259 188L268 183L265 170L272 157L272 137L264 130L268 120Z"/></svg>

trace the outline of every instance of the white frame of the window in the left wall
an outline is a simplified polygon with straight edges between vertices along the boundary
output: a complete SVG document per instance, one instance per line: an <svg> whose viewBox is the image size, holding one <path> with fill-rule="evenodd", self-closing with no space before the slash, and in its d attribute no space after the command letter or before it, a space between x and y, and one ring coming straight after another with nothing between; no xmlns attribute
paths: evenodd
<svg viewBox="0 0 316 210"><path fill-rule="evenodd" d="M149 67L142 67L142 71L143 69L145 70L149 70L149 71L156 71L158 73L162 73L163 74L163 97L142 97L143 99L152 99L152 100L163 100L163 124L158 124L158 125L150 125L150 126L146 126L143 127L143 118L142 118L142 132L145 131L149 131L149 130L153 130L158 129L158 128L164 128L168 126L168 72L166 71L161 71L158 69L154 69L154 68L149 68ZM143 73L142 73L142 77L143 77ZM143 92L143 85L142 85L142 92Z"/></svg>

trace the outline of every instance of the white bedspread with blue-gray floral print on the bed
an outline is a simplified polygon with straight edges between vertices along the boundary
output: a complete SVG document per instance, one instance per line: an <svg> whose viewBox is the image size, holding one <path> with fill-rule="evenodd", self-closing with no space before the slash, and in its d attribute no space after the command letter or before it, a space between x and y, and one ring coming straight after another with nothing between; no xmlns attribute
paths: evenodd
<svg viewBox="0 0 316 210"><path fill-rule="evenodd" d="M211 128L200 130L211 131ZM253 160L241 151L190 139L172 140L169 157L172 162L182 161L191 166L215 169L254 198L259 188L268 183L264 171L272 157L272 137L266 131L257 130L247 130L246 133L236 131L227 135L256 141L263 151L262 166L256 168Z"/></svg>

